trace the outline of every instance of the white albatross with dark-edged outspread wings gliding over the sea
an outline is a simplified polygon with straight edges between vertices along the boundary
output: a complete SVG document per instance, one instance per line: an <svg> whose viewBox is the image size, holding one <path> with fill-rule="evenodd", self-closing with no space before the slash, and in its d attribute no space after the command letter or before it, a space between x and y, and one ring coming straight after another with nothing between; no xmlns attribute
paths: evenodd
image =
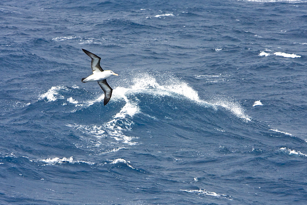
<svg viewBox="0 0 307 205"><path fill-rule="evenodd" d="M91 53L85 49L82 49L86 55L90 56L92 61L91 61L91 67L92 67L92 71L93 74L88 76L87 78L82 78L82 83L86 83L89 81L96 81L98 82L98 84L100 85L100 87L102 88L103 92L104 92L104 105L106 105L111 96L112 96L112 88L109 86L109 84L107 83L107 78L110 77L111 75L117 75L116 73L114 73L113 71L104 71L101 66L100 66L100 57L96 56L94 53Z"/></svg>

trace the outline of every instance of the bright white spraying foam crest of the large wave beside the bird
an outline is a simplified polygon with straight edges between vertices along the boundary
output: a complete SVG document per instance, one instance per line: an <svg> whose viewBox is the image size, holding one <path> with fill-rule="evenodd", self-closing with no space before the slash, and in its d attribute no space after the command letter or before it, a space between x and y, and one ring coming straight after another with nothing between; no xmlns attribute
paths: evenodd
<svg viewBox="0 0 307 205"><path fill-rule="evenodd" d="M217 78L216 75L212 76L196 76L197 78ZM116 87L113 89L112 101L124 101L125 104L121 108L121 110L115 114L114 119L111 120L106 125L116 125L118 119L126 119L126 117L133 117L135 114L142 113L140 109L140 102L135 98L136 95L146 93L153 96L169 96L172 98L186 98L190 102L200 104L204 107L213 107L217 109L218 107L223 107L231 113L235 114L239 118L243 118L247 121L251 121L251 118L244 113L243 107L239 102L235 102L233 100L229 100L227 97L216 96L214 99L210 99L210 102L200 99L198 92L194 90L188 83L182 81L173 76L153 76L149 74L138 74L132 80L129 79L133 84L128 87ZM104 99L104 94L99 95L96 98L92 99L84 99L82 98L75 99L72 96L67 96L68 93L71 93L74 89L79 89L79 87L67 87L63 85L51 87L47 92L41 94L39 96L39 100L47 99L47 102L53 102L58 99L65 100L63 105L67 105L67 103L76 107L76 109L72 110L72 112L76 112L77 110L89 107L94 103L100 103ZM98 89L98 88L97 88ZM65 96L66 95L66 96ZM80 96L79 96L80 97ZM66 102L66 103L65 103ZM153 118L155 116L152 116ZM131 125L131 119L126 122L127 125Z"/></svg>

